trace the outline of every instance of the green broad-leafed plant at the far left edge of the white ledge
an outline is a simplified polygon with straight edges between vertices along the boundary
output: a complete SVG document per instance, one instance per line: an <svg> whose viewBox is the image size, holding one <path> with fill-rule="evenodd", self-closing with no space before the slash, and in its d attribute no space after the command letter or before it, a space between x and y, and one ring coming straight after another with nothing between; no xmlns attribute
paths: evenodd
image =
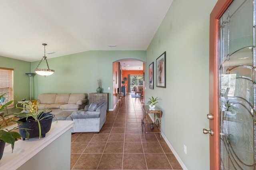
<svg viewBox="0 0 256 170"><path fill-rule="evenodd" d="M6 93L5 93L6 94ZM0 99L3 98L5 95L0 95ZM18 113L10 113L10 114L4 114L2 111L4 108L6 108L8 105L10 105L13 101L9 101L5 104L1 103L0 107L0 159L2 158L3 152L4 152L4 146L5 143L9 143L12 145L12 150L14 149L14 142L17 139L20 139L20 134L16 132L15 130L18 129L18 125L14 128L8 129L6 128L10 123L17 123L14 118L15 116L19 115Z"/></svg>

